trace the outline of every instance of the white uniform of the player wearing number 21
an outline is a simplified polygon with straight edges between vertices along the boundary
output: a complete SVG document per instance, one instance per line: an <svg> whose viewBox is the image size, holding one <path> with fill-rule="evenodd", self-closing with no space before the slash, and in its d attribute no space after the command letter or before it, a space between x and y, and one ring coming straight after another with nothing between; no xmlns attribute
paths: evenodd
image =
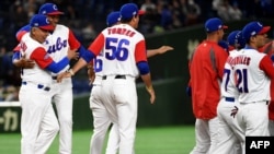
<svg viewBox="0 0 274 154"><path fill-rule="evenodd" d="M236 78L236 88L239 92L240 109L237 115L244 135L264 137L269 131L270 79L265 68L261 69L265 54L246 47L238 51L231 60ZM269 59L269 66L272 66ZM246 140L243 141L246 142ZM243 143L246 145L246 143ZM244 153L246 147L243 147Z"/></svg>

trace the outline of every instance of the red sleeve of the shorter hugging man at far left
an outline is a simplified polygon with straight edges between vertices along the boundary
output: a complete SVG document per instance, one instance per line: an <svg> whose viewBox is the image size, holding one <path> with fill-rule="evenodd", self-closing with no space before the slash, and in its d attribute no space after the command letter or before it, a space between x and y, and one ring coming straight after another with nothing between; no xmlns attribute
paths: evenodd
<svg viewBox="0 0 274 154"><path fill-rule="evenodd" d="M36 48L32 55L31 59L35 60L35 62L42 68L45 69L48 64L50 64L54 60L50 58L50 56L47 54L47 51L38 47Z"/></svg>

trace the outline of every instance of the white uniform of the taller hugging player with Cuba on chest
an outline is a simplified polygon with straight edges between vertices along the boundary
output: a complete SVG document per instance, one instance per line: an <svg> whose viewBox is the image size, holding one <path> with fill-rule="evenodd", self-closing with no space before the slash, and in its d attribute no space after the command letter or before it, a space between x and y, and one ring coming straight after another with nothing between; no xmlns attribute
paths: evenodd
<svg viewBox="0 0 274 154"><path fill-rule="evenodd" d="M55 61L59 61L67 56L69 49L78 49L80 43L76 39L72 32L65 25L57 24L55 31L48 35L44 43L47 52ZM69 64L58 73L69 69ZM60 125L59 153L71 153L72 144L72 82L71 78L66 78L61 83L57 83L57 74L53 76L53 102L56 105L58 121Z"/></svg>

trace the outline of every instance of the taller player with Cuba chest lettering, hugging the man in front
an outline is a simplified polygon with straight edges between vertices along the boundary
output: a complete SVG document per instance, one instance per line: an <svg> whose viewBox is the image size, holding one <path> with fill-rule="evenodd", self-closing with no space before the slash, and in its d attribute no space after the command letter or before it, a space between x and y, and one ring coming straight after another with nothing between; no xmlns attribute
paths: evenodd
<svg viewBox="0 0 274 154"><path fill-rule="evenodd" d="M49 56L58 61L67 56L67 50L79 50L80 54L84 52L85 49L80 45L76 39L71 29L65 25L58 24L59 15L64 14L60 12L56 4L45 3L39 8L38 14L44 14L49 20L50 24L55 27L53 33L47 36L44 46L47 49ZM27 32L27 25L21 28L22 32L16 34L18 39ZM24 60L24 59L23 59ZM21 60L16 60L21 61ZM15 62L14 62L15 63ZM19 64L18 64L19 66ZM22 66L21 66L22 67ZM69 64L66 66L62 70L56 73L52 73L53 78L53 87L52 92L53 102L56 105L58 121L60 125L60 134L59 134L59 153L60 154L70 154L71 153L71 143L72 143L72 83L71 79L65 79L61 83L57 83L57 75L61 72L65 72L69 69Z"/></svg>

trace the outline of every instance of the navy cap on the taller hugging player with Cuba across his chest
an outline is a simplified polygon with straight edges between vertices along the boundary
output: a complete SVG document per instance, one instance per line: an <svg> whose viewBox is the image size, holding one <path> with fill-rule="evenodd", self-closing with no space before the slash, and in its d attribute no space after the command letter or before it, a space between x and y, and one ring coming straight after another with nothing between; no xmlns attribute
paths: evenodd
<svg viewBox="0 0 274 154"><path fill-rule="evenodd" d="M54 3L45 3L39 8L38 14L44 15L60 15L64 14L64 12L60 12L56 4Z"/></svg>

